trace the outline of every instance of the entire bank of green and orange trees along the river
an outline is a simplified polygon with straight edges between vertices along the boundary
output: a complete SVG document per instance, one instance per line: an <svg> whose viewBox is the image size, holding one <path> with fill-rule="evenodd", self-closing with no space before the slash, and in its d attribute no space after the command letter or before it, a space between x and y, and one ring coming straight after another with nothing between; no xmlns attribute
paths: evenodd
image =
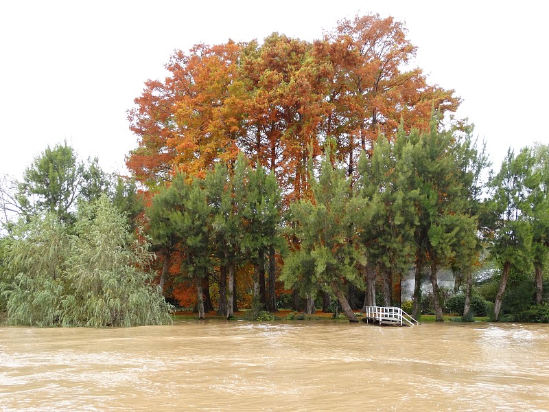
<svg viewBox="0 0 549 412"><path fill-rule="evenodd" d="M239 303L275 312L284 297L356 321L401 304L410 268L416 319L458 307L469 320L484 299L496 320L547 319L549 148L509 151L490 174L472 126L449 115L454 91L410 69L414 53L404 26L377 15L312 43L272 34L174 53L129 112L137 185L66 144L3 181L8 320L161 323L163 291L199 318ZM453 299L442 269L456 275Z"/></svg>

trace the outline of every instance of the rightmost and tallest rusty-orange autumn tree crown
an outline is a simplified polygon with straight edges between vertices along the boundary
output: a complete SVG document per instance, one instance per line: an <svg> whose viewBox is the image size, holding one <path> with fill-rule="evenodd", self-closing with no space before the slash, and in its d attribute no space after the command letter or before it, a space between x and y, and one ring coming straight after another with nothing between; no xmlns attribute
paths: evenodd
<svg viewBox="0 0 549 412"><path fill-rule="evenodd" d="M421 69L409 69L416 51L404 24L379 14L343 19L315 42L319 65L331 67L323 133L337 139L349 176L360 150L371 150L379 133L394 139L401 119L407 131L423 129L433 106L441 114L456 110L453 90L428 84Z"/></svg>

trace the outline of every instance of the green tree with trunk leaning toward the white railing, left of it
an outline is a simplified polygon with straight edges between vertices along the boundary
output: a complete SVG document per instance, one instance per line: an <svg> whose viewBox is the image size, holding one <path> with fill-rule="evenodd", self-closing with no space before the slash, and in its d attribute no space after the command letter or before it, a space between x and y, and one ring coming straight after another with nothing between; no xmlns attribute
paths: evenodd
<svg viewBox="0 0 549 412"><path fill-rule="evenodd" d="M290 207L299 246L286 260L281 279L287 288L301 285L309 293L319 288L333 293L349 321L355 322L344 284L351 282L363 288L357 264L364 263L364 254L351 242L349 181L344 170L332 165L329 145L325 146L318 177L311 175L309 181L313 199Z"/></svg>

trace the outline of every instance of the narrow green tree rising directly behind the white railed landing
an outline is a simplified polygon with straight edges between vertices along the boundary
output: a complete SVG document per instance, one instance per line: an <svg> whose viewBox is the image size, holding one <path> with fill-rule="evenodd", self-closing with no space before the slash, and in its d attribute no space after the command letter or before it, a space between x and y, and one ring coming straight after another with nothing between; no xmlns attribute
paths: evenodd
<svg viewBox="0 0 549 412"><path fill-rule="evenodd" d="M400 128L398 134L403 137L404 130ZM417 190L401 190L411 171L409 162L402 159L404 141L403 137L393 143L379 136L373 144L371 158L366 153L360 157L355 187L358 241L366 250L371 268L366 276L374 270L382 275L385 306L392 303L393 274L401 273L410 263L412 233L417 220L413 203ZM375 284L369 282L369 288L374 287ZM375 304L372 292L367 292L372 296L367 302L369 306Z"/></svg>

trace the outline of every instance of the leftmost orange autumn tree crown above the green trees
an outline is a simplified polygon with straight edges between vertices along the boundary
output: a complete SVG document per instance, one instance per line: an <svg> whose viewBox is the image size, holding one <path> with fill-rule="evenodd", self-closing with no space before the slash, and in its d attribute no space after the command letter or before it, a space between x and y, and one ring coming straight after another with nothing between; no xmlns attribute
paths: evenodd
<svg viewBox="0 0 549 412"><path fill-rule="evenodd" d="M177 51L166 65L170 76L145 83L128 113L139 147L126 164L138 181L158 185L173 170L203 177L215 161L235 159L242 114L229 100L239 51L231 41Z"/></svg>

